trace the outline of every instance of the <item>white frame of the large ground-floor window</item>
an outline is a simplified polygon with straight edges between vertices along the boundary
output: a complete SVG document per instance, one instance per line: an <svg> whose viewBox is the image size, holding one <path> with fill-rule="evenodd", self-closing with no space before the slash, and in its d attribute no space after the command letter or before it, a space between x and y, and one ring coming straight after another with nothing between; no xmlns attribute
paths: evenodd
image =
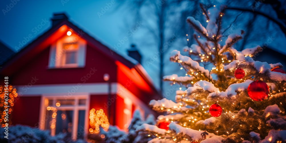
<svg viewBox="0 0 286 143"><path fill-rule="evenodd" d="M41 114L40 114L40 121L45 121L45 116L46 116L46 110L47 110L47 106L45 106L44 102L45 99L48 100L53 100L53 106L57 108L57 110L72 110L74 111L73 114L73 128L72 128L72 139L76 140L77 139L77 135L78 135L78 112L79 110L85 110L85 118L84 118L84 139L87 139L87 135L88 135L88 123L89 123L89 106L90 106L90 95L72 95L70 97L68 96L63 96L63 95L59 95L59 96L50 96L50 95L43 95L41 98ZM75 105L65 105L65 106L55 106L56 104L56 100L70 100L70 99L74 99L75 100ZM79 105L79 100L80 99L85 99L86 100L86 104L85 105ZM58 116L58 115L57 115ZM40 129L42 130L46 130L45 129L45 125L46 122L42 122L40 124ZM55 135L55 128L51 129L51 136Z"/></svg>

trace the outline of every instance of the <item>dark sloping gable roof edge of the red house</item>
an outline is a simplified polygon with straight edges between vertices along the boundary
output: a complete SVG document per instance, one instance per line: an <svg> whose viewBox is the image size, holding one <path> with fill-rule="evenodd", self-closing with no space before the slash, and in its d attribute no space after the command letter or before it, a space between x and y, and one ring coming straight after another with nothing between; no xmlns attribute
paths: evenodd
<svg viewBox="0 0 286 143"><path fill-rule="evenodd" d="M88 33L84 32L78 26L71 23L68 19L62 19L61 21L57 19L56 24L53 24L53 26L45 33L43 33L43 35L39 36L29 45L21 49L21 51L11 57L9 61L4 62L2 64L3 68L0 69L0 74L5 76L14 74L17 69L25 65L26 62L31 60L37 54L41 53L45 48L51 45L51 43L54 43L58 38L66 34L65 32L62 32L62 28L65 27L64 25L66 25L67 28L69 27L79 33L89 45L104 53L105 56L109 57L110 59L114 59L115 61L120 61L129 68L133 67L134 69L136 69L136 71L140 74L140 76L142 76L142 78L147 82L147 84L152 88L152 90L154 90L156 94L161 96L150 81L150 77L148 76L144 68L142 68L142 65L140 63L138 63L136 60L129 56L123 57L122 55L113 52L106 45L102 44L101 42L90 36ZM17 64L17 66L14 65L15 63Z"/></svg>

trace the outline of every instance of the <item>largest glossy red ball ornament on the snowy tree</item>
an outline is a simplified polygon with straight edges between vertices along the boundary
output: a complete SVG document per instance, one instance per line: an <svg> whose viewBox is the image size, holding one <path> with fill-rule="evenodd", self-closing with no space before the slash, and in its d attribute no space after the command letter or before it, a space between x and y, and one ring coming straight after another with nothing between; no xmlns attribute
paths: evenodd
<svg viewBox="0 0 286 143"><path fill-rule="evenodd" d="M251 99L255 101L262 101L268 97L269 87L265 82L257 80L249 84L247 93Z"/></svg>

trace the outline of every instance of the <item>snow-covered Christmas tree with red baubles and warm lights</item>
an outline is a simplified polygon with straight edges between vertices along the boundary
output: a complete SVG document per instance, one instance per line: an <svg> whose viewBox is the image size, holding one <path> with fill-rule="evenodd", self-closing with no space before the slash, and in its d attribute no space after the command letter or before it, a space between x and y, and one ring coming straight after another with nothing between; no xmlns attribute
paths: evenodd
<svg viewBox="0 0 286 143"><path fill-rule="evenodd" d="M237 51L234 44L244 31L233 31L223 40L224 7L201 7L206 27L194 17L187 18L197 44L184 47L185 53L174 50L170 56L186 76L164 76L186 90L176 91L175 102L151 100L154 110L166 114L158 117L156 125L142 124L136 131L156 136L149 142L286 142L283 65L255 61L261 46Z"/></svg>

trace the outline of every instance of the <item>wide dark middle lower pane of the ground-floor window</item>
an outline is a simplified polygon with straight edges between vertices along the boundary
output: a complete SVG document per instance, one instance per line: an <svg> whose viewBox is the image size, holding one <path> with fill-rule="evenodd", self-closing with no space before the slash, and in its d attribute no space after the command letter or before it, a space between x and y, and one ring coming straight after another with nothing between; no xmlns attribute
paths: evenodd
<svg viewBox="0 0 286 143"><path fill-rule="evenodd" d="M57 122L55 134L67 133L68 137L72 136L72 122L74 111L57 111Z"/></svg>

